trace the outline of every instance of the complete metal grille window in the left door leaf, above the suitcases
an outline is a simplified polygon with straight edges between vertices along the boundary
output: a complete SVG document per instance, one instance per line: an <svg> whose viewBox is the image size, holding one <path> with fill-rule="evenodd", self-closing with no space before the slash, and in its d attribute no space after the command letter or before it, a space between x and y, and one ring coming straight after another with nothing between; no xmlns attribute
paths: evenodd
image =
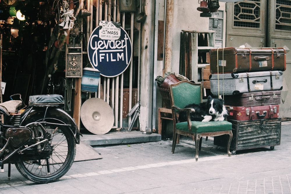
<svg viewBox="0 0 291 194"><path fill-rule="evenodd" d="M260 28L260 0L234 4L233 26Z"/></svg>

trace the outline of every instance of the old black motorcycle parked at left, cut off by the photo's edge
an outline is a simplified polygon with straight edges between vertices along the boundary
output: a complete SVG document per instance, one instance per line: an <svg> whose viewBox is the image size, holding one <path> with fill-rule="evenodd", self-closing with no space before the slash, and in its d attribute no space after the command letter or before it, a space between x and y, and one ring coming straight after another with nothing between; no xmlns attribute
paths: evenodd
<svg viewBox="0 0 291 194"><path fill-rule="evenodd" d="M19 99L13 100L15 96ZM58 180L70 169L80 133L73 118L60 108L61 95L34 95L26 106L20 94L0 103L0 166L15 164L36 183ZM9 173L9 172L8 172Z"/></svg>

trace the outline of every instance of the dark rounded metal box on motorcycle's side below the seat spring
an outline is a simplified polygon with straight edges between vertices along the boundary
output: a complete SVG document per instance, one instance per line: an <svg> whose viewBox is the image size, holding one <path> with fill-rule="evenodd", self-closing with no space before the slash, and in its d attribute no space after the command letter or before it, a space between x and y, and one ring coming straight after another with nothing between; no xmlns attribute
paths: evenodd
<svg viewBox="0 0 291 194"><path fill-rule="evenodd" d="M26 128L8 128L5 133L6 138L11 138L11 145L15 148L23 145L32 138L31 130Z"/></svg>

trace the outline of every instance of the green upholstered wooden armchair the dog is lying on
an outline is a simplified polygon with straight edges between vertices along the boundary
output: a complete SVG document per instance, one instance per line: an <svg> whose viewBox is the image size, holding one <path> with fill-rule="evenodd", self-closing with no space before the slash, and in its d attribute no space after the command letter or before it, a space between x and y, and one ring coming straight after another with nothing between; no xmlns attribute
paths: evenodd
<svg viewBox="0 0 291 194"><path fill-rule="evenodd" d="M232 124L225 120L210 122L191 121L190 113L195 110L193 108L184 108L188 104L199 104L200 102L202 102L201 84L192 83L190 81L180 81L178 83L170 85L170 95L173 114L172 154L174 154L175 152L178 134L193 137L196 146L196 161L198 160L199 141L201 137L220 136L228 134L229 139L227 143L227 154L228 156L231 156L229 147L230 142L233 138ZM186 111L187 122L178 122L178 114L181 111Z"/></svg>

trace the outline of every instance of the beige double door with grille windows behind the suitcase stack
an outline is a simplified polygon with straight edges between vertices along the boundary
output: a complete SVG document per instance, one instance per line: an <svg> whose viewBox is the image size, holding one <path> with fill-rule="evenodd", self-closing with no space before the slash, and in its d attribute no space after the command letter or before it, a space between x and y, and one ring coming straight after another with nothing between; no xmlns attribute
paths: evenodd
<svg viewBox="0 0 291 194"><path fill-rule="evenodd" d="M226 47L284 47L286 70L279 116L291 120L291 1L244 0L227 3Z"/></svg>

